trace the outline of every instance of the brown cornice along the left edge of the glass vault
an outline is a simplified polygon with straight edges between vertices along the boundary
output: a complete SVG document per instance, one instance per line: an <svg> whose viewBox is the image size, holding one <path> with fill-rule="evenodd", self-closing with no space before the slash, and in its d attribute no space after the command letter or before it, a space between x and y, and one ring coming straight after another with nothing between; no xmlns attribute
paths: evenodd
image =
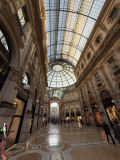
<svg viewBox="0 0 120 160"><path fill-rule="evenodd" d="M38 4L39 2L39 4ZM33 1L29 0L26 1L27 5L29 6L29 16L30 16L30 22L31 22L31 29L32 29L32 36L34 37L34 40L37 44L37 52L39 54L38 61L42 65L43 68L43 83L45 86L47 86L47 70L48 70L48 62L47 62L47 53L46 53L46 46L44 42L44 26L43 26L43 16L45 16L44 9L42 8L41 11L41 1ZM42 5L44 3L42 2ZM42 12L42 13L41 13Z"/></svg>

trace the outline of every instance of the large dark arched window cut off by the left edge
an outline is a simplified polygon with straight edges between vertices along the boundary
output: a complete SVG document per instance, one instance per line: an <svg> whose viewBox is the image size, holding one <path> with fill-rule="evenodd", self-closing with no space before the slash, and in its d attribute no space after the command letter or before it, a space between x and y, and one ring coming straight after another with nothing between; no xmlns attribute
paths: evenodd
<svg viewBox="0 0 120 160"><path fill-rule="evenodd" d="M4 33L0 29L0 90L10 71L11 54Z"/></svg>

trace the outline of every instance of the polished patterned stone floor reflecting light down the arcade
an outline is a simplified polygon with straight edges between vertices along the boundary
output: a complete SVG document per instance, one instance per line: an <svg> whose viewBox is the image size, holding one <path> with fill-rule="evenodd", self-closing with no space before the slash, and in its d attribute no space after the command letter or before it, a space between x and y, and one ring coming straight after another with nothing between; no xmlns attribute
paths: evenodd
<svg viewBox="0 0 120 160"><path fill-rule="evenodd" d="M118 142L107 143L102 128L72 122L48 124L26 142L6 150L5 156L6 160L120 160L119 150Z"/></svg>

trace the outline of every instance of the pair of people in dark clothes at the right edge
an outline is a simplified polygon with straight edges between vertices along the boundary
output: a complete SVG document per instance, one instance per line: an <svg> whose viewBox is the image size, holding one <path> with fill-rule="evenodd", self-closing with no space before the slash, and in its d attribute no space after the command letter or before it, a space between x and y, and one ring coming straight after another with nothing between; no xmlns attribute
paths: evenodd
<svg viewBox="0 0 120 160"><path fill-rule="evenodd" d="M105 121L103 122L103 129L104 129L105 134L107 136L108 143L109 143L108 136L110 136L111 139L112 139L113 144L116 145L115 140L112 137L112 134L110 132L110 128L109 128L109 126L107 125L107 123ZM113 125L113 131L114 131L115 139L118 140L118 142L120 143L120 126L119 126L119 124L114 124Z"/></svg>

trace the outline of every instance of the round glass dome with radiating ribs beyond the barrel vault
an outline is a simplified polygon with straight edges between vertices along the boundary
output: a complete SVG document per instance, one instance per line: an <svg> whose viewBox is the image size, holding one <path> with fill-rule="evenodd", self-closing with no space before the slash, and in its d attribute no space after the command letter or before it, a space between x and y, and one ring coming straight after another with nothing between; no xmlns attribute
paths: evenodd
<svg viewBox="0 0 120 160"><path fill-rule="evenodd" d="M74 67L68 63L56 62L48 67L48 87L62 88L76 82Z"/></svg>

